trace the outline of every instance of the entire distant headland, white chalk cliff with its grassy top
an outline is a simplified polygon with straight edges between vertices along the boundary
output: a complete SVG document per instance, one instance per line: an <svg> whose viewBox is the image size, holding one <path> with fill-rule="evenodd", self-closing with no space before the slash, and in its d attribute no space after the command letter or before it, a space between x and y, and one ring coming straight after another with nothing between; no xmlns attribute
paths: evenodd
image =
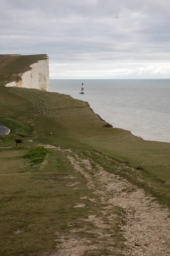
<svg viewBox="0 0 170 256"><path fill-rule="evenodd" d="M0 55L0 86L48 91L48 55Z"/></svg>

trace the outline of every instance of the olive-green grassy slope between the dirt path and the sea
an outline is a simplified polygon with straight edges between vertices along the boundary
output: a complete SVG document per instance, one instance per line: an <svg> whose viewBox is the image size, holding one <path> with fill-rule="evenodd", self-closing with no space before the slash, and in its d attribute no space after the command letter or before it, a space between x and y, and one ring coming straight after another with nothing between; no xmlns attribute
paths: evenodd
<svg viewBox="0 0 170 256"><path fill-rule="evenodd" d="M170 143L145 141L123 129L105 128L105 122L91 111L87 103L70 96L24 88L0 88L0 95L4 95L7 105L0 108L0 114L11 114L10 118L34 126L33 133L39 136L37 141L77 151L95 149L113 159L128 162L134 168L142 164L144 169L136 172L158 194L161 190L164 195L162 203L170 204ZM46 106L46 116L33 115L36 113L33 108L40 111L40 101ZM52 139L48 137L51 131L54 134ZM44 133L47 137L42 136Z"/></svg>

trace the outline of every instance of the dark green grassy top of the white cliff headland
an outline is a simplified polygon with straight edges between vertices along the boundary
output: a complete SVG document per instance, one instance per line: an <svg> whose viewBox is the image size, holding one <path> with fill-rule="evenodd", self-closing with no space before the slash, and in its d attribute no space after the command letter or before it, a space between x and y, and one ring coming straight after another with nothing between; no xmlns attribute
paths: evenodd
<svg viewBox="0 0 170 256"><path fill-rule="evenodd" d="M39 55L0 55L0 86L16 81L17 73L30 70L30 65L47 58L46 54Z"/></svg>

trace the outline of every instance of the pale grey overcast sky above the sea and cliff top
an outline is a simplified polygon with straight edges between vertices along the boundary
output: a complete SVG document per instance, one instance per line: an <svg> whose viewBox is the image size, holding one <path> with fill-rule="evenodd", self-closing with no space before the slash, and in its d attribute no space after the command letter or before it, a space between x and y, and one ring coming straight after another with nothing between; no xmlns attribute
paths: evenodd
<svg viewBox="0 0 170 256"><path fill-rule="evenodd" d="M51 79L170 79L170 0L0 0L0 54L41 53Z"/></svg>

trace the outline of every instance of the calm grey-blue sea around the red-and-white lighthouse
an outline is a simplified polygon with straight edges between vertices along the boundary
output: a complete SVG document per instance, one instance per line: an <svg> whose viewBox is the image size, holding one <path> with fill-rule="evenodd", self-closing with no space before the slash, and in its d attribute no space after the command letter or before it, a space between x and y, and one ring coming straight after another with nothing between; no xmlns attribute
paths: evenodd
<svg viewBox="0 0 170 256"><path fill-rule="evenodd" d="M87 101L115 128L170 142L170 79L50 80L50 91Z"/></svg>

